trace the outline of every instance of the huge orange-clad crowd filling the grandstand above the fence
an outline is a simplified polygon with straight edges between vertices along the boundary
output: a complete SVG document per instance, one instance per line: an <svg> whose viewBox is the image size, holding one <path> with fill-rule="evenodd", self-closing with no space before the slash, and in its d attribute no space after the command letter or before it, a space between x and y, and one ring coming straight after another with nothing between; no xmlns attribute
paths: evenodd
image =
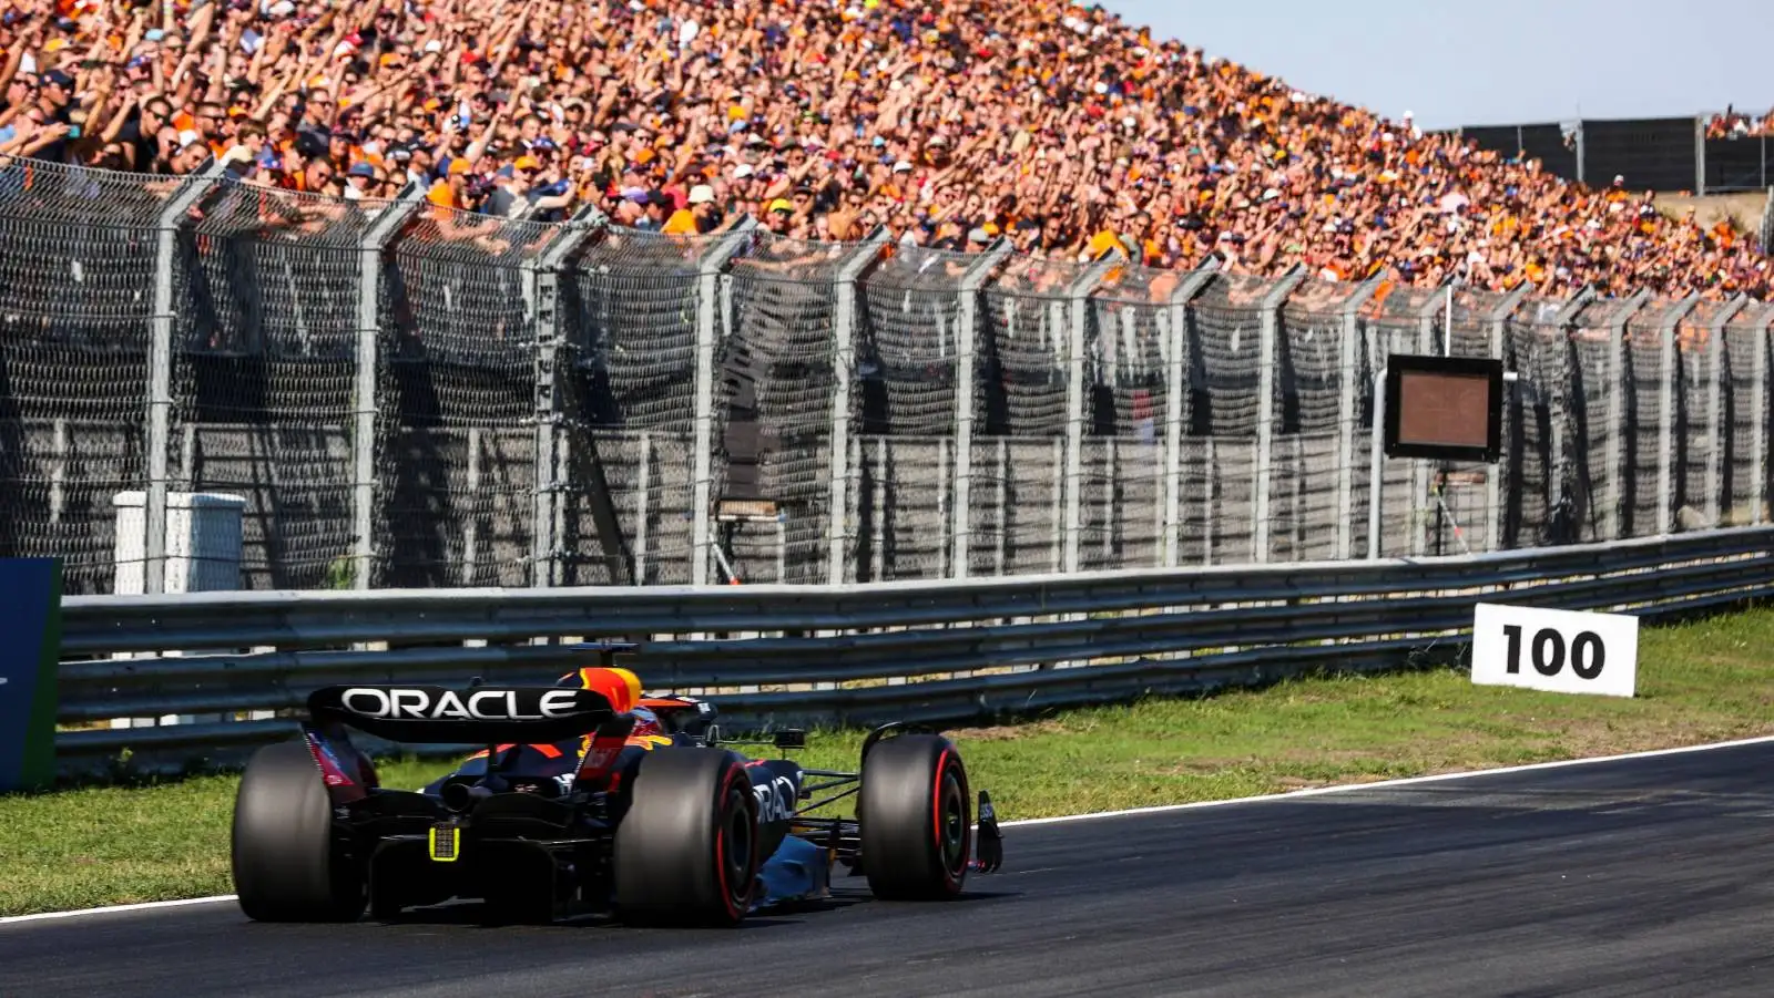
<svg viewBox="0 0 1774 998"><path fill-rule="evenodd" d="M1769 289L1728 227L1064 0L16 0L0 156L708 232L1563 294Z"/></svg>

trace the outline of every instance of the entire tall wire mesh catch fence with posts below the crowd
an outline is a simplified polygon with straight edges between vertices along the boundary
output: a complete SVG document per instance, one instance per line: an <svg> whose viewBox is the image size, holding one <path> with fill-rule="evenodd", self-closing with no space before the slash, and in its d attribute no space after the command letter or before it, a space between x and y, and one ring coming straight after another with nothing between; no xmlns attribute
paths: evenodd
<svg viewBox="0 0 1774 998"><path fill-rule="evenodd" d="M1760 301L663 236L30 161L0 165L0 557L64 558L69 592L986 578L1769 511ZM1515 379L1503 459L1382 459L1370 537L1393 353ZM239 511L220 553L209 500Z"/></svg>

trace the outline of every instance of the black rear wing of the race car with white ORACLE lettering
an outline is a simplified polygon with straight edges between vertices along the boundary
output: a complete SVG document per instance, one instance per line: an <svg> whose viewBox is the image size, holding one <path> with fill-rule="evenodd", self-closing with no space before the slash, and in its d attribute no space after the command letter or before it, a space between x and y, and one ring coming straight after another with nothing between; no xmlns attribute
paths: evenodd
<svg viewBox="0 0 1774 998"><path fill-rule="evenodd" d="M603 693L562 686L323 686L309 714L420 745L550 743L619 720Z"/></svg>

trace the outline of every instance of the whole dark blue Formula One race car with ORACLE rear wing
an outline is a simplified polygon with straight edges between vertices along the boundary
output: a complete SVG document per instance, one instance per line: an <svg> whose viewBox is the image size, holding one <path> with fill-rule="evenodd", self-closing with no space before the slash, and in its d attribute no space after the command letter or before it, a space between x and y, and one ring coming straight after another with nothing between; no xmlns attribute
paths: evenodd
<svg viewBox="0 0 1774 998"><path fill-rule="evenodd" d="M626 647L593 645L605 663ZM263 922L481 899L493 922L733 925L827 897L839 862L876 897L907 901L954 897L1002 862L985 791L970 835L954 745L899 725L867 736L857 773L747 759L724 748L713 704L642 697L633 672L608 665L553 688L328 686L309 713L302 741L254 755L234 803L234 890ZM486 748L397 791L378 785L346 727ZM809 814L852 794L853 819Z"/></svg>

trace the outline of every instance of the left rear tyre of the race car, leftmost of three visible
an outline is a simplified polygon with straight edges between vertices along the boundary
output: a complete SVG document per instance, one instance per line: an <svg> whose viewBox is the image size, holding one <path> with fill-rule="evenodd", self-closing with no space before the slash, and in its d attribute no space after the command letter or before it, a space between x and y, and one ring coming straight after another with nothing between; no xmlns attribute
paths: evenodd
<svg viewBox="0 0 1774 998"><path fill-rule="evenodd" d="M254 753L234 796L234 893L255 922L355 922L369 892L334 842L332 801L305 741Z"/></svg>

